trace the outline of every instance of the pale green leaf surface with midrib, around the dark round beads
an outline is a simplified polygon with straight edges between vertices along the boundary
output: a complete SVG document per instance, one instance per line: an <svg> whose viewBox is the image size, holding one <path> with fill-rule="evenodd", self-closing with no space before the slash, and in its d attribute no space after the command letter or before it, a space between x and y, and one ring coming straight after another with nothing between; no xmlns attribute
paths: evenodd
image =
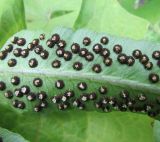
<svg viewBox="0 0 160 142"><path fill-rule="evenodd" d="M26 48L27 45L39 37L43 32L32 32L32 31L22 31L14 36L23 37L26 39L26 46L22 48ZM73 43L78 43L80 47L85 47L82 44L84 37L91 38L91 44L86 46L90 52L94 54L94 60L92 62L86 61L84 58L78 56L77 54L72 55L72 59L70 61L65 61L63 58L57 57L55 51L57 49L57 45L54 48L49 48L46 46L46 41L49 39L54 33L58 33L61 39L65 40L67 46L65 47L66 51L70 51L70 46ZM92 51L92 47L95 43L99 43L101 37L107 36L109 38L109 43L104 45L103 48L107 48L110 50L110 57L113 60L113 64L111 66L105 66L103 63L103 58ZM5 47L10 43L11 39L9 39L2 51ZM117 98L117 103L124 103L124 100L119 97L119 93L123 90L129 91L130 98L137 99L139 94L145 94L147 100L145 102L139 102L136 100L137 107L142 107L147 103L152 103L154 108L152 111L158 111L159 105L156 103L157 97L159 97L160 89L159 83L152 84L148 80L148 75L150 72L159 73L159 68L156 66L156 61L152 59L152 52L158 50L159 44L153 44L146 41L133 41L130 39L121 39L119 37L114 37L105 33L93 33L88 30L78 30L73 32L71 29L65 28L57 28L50 34L45 35L45 40L40 41L40 45L43 46L49 52L48 59L44 60L39 55L35 54L34 51L29 52L29 56L26 58L15 57L13 53L8 53L7 57L1 61L0 63L0 77L1 81L6 83L6 90L14 91L16 88L20 88L22 85L28 85L30 90L34 93L39 91L45 91L48 94L47 101L49 102L49 107L47 109L51 109L51 111L59 111L57 109L57 105L51 103L50 98L59 94L64 94L67 90L73 90L75 92L75 98L79 98L84 93L95 92L98 96L98 99L102 99L105 97L115 97ZM150 61L153 63L154 67L151 71L145 70L143 65L139 63L139 61L135 60L135 64L133 66L122 65L117 61L117 55L113 52L113 46L115 44L120 44L123 47L123 53L128 55L132 55L134 49L139 49L143 54L146 54ZM18 45L14 45L14 49L18 47ZM147 50L146 50L147 49ZM7 62L9 59L14 58L17 60L17 65L15 67L9 67ZM28 61L31 58L36 58L38 60L38 66L36 68L30 68L28 65ZM53 68L51 63L53 60L58 59L61 61L60 68ZM75 61L80 61L83 64L83 69L81 71L75 71L72 67ZM95 73L92 71L92 66L94 64L100 64L102 68L102 72ZM13 86L10 83L11 77L19 76L20 84L19 86ZM41 78L43 81L42 87L33 86L34 78ZM65 87L63 89L57 89L55 87L55 82L57 80L63 80ZM81 91L77 88L77 84L80 82L85 82L87 84L87 90ZM106 95L102 95L99 93L98 89L101 86L105 86L108 89L108 93ZM6 91L5 90L5 91ZM5 91L1 93L4 94ZM10 100L7 100L4 95L0 96L2 105L9 105L11 103ZM26 109L19 110L15 109L17 113L33 111L33 107L38 101L29 102L26 97L17 98L13 97L12 100L21 100L26 104ZM97 100L98 100L97 99ZM86 110L95 110L95 102L97 101L87 101L84 102L86 106ZM73 100L70 100L71 103ZM9 105L12 107L12 105ZM71 107L72 108L72 107ZM77 108L75 108L77 109ZM46 111L46 110L43 110ZM157 116L158 119L158 116Z"/></svg>

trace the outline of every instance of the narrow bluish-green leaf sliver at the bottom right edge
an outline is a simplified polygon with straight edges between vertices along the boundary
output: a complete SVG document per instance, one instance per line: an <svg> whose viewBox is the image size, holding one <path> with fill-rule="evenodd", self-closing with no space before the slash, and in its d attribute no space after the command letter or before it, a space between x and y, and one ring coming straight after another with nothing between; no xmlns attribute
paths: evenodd
<svg viewBox="0 0 160 142"><path fill-rule="evenodd" d="M153 126L155 142L160 142L160 121L155 121Z"/></svg>

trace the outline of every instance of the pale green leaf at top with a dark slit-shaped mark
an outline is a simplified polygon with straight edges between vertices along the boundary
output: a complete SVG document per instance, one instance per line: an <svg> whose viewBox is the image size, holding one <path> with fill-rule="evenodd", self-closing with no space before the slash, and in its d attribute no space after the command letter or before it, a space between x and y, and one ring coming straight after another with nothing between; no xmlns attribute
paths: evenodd
<svg viewBox="0 0 160 142"><path fill-rule="evenodd" d="M50 31L57 26L73 27L81 2L82 0L24 1L27 28Z"/></svg>

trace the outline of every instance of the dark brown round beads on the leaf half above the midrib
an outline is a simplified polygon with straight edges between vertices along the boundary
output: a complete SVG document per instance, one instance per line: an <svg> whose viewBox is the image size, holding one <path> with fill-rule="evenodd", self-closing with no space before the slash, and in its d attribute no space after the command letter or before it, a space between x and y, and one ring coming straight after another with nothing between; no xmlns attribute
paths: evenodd
<svg viewBox="0 0 160 142"><path fill-rule="evenodd" d="M26 58L29 56L29 53L31 51L34 51L35 54L38 54L42 59L45 60L49 57L49 52L47 51L47 49L44 49L42 45L40 45L41 40L45 40L44 34L41 34L39 39L34 39L31 43L29 43L26 49L13 49L13 44L17 44L18 46L24 46L26 44L26 39L14 37L11 41L12 44L9 44L3 51L0 52L0 59L4 60L9 53L13 52L15 58L11 58L8 60L8 66L14 67L17 65L16 57ZM113 63L113 59L110 56L110 50L103 47L103 45L108 44L109 39L104 36L100 39L99 42L100 43L96 43L93 45L92 50L94 54L87 49L87 46L91 44L91 39L89 37L84 37L83 48L81 48L78 43L73 43L70 47L70 51L67 51L65 50L65 47L67 45L66 41L61 39L60 35L53 34L52 37L46 41L46 45L49 48L54 48L55 46L58 47L55 51L57 59L53 60L51 66L53 68L60 68L61 61L58 58L64 58L65 61L70 61L73 54L84 58L88 62L92 62L95 58L94 56L98 54L102 57L105 66L111 66ZM135 60L138 60L146 70L152 70L153 68L153 63L150 61L149 57L146 54L143 54L138 49L134 50L132 52L132 55L126 55L125 53L123 53L123 47L119 44L116 44L113 47L113 51L117 55L117 62L119 62L120 64L126 64L130 67L135 64ZM152 53L152 58L157 60L157 66L160 67L160 51L154 51ZM31 58L28 61L28 65L31 68L36 68L38 66L38 60L36 58ZM101 73L103 71L101 66L102 65L98 63L93 64L91 66L91 69L95 73ZM84 65L80 61L75 61L73 62L72 67L74 70L80 71L84 68ZM159 75L151 72L148 75L148 79L152 83L157 83L159 82Z"/></svg>

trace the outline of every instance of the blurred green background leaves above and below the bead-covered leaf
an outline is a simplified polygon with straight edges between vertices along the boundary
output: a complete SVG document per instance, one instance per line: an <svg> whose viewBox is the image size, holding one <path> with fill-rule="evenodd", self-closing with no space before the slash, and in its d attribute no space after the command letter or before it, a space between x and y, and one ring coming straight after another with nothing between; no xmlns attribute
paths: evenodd
<svg viewBox="0 0 160 142"><path fill-rule="evenodd" d="M51 31L57 26L159 41L158 5L159 0L144 0L143 3L142 0L1 0L0 46L22 29ZM72 111L51 115L31 112L21 115L1 106L0 114L1 127L31 142L160 141L158 121L154 123L147 116L129 112ZM4 139L9 135L10 138L5 139L7 142L25 141L19 134L3 128L0 135Z"/></svg>

